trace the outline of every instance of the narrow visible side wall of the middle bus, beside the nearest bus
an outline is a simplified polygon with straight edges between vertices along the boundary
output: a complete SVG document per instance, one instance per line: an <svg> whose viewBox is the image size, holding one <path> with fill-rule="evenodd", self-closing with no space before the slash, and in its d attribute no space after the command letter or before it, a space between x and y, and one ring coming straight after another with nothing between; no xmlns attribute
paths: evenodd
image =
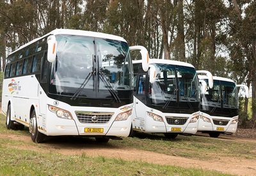
<svg viewBox="0 0 256 176"><path fill-rule="evenodd" d="M136 77L136 76L135 76ZM134 77L134 78L135 78ZM146 74L138 74L136 77L136 86L134 87L134 110L135 110L135 118L134 118L134 126L133 128L145 130L145 86L146 83Z"/></svg>

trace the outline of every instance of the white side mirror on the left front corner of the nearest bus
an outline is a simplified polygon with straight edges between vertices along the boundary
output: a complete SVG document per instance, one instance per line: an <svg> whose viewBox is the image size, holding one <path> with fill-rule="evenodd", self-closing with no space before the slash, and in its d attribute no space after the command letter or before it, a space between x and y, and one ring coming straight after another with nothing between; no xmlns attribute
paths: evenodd
<svg viewBox="0 0 256 176"><path fill-rule="evenodd" d="M52 63L56 60L56 54L57 54L57 41L54 35L48 36L47 44L48 44L47 60Z"/></svg>

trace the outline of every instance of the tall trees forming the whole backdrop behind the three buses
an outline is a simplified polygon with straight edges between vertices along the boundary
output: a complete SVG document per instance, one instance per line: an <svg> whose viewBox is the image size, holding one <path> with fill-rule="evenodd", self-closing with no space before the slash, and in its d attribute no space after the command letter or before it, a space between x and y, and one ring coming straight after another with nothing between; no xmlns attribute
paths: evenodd
<svg viewBox="0 0 256 176"><path fill-rule="evenodd" d="M253 0L0 0L1 67L10 51L52 29L83 29L252 84L255 102L255 9Z"/></svg>

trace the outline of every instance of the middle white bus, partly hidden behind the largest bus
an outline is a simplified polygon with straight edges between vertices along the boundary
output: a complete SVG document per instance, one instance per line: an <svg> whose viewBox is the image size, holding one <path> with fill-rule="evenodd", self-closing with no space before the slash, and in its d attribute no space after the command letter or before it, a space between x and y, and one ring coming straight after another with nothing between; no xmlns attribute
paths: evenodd
<svg viewBox="0 0 256 176"><path fill-rule="evenodd" d="M150 59L145 72L141 61L134 69L134 132L163 133L166 138L195 134L198 127L200 90L195 67L173 60Z"/></svg>

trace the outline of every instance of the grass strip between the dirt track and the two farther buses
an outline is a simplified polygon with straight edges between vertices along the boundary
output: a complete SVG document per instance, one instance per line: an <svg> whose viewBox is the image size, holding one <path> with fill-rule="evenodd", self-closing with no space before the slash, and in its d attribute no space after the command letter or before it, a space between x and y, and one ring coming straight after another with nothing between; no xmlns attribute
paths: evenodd
<svg viewBox="0 0 256 176"><path fill-rule="evenodd" d="M168 140L163 134L139 133L136 138L124 138L123 141L112 143L119 147L133 147L191 159L209 160L227 156L256 160L256 143L252 141L241 143L232 139L182 135L178 135L175 140Z"/></svg>

